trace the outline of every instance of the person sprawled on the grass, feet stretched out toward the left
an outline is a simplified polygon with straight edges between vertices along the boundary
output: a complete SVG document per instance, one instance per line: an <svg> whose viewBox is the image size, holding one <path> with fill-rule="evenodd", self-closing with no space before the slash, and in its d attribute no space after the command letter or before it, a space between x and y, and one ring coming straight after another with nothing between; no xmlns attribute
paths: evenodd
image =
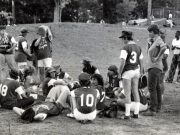
<svg viewBox="0 0 180 135"><path fill-rule="evenodd" d="M69 95L70 90L67 86L57 85L50 90L45 101L33 104L27 109L14 107L13 111L23 120L43 121L49 116L61 114L63 109L68 109L70 107L70 102L67 102L70 101Z"/></svg>

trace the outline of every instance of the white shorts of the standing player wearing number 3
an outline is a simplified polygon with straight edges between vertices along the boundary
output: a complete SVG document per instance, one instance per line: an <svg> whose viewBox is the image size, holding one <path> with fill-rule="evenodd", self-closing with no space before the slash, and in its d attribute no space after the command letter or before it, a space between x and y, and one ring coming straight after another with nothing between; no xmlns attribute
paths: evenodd
<svg viewBox="0 0 180 135"><path fill-rule="evenodd" d="M140 76L140 69L135 69L135 70L128 70L128 71L125 71L123 74L122 74L122 78L123 79L127 79L127 80L131 80L132 78L139 78Z"/></svg>

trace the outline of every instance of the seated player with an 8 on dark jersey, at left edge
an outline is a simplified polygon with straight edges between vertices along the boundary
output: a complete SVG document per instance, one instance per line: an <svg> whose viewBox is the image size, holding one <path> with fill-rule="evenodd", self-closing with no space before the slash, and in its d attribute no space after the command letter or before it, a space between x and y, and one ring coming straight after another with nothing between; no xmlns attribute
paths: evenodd
<svg viewBox="0 0 180 135"><path fill-rule="evenodd" d="M0 84L0 103L3 108L12 109L13 107L25 108L33 104L33 97L27 97L25 91L20 86L18 73L10 70L10 78L5 79Z"/></svg>

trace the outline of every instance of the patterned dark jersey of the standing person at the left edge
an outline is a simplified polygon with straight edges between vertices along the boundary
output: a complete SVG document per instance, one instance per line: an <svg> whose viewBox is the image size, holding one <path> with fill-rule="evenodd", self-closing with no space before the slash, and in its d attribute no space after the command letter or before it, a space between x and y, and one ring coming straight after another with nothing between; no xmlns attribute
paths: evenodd
<svg viewBox="0 0 180 135"><path fill-rule="evenodd" d="M13 51L7 52L7 49L10 49L12 47L11 45L11 36L7 35L4 37L0 36L0 53L2 54L12 54Z"/></svg>

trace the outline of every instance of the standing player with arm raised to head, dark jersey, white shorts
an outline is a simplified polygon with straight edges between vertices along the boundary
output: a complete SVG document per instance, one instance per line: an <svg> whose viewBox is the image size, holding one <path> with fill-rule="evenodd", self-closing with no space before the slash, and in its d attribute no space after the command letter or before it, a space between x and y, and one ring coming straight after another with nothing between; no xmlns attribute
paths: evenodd
<svg viewBox="0 0 180 135"><path fill-rule="evenodd" d="M47 31L44 27L40 26L37 34L40 36L35 42L35 46L37 47L37 66L40 80L43 82L45 70L52 67L52 48L51 41L47 37Z"/></svg>

